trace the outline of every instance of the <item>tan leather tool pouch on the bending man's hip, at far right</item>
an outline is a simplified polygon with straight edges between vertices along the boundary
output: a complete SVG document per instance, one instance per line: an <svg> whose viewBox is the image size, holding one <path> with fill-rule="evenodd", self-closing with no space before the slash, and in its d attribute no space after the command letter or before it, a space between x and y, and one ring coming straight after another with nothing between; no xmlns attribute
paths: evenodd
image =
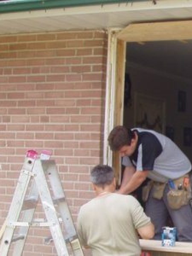
<svg viewBox="0 0 192 256"><path fill-rule="evenodd" d="M189 199L191 198L191 183L189 182L187 187L183 186L183 180L185 177L189 178L189 175L186 174L176 180L173 180L175 189L170 188L167 193L169 207L172 209L180 209L180 207L189 203Z"/></svg>

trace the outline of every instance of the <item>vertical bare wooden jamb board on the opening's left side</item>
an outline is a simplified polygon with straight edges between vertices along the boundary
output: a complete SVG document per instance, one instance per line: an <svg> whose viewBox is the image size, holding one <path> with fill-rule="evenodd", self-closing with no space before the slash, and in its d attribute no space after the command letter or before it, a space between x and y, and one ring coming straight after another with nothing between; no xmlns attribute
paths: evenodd
<svg viewBox="0 0 192 256"><path fill-rule="evenodd" d="M114 126L122 125L122 122L123 122L125 47L126 47L125 41L118 39L117 50L116 50L116 91L115 91ZM121 161L120 161L118 152L113 153L113 167L115 169L116 183L120 185Z"/></svg>

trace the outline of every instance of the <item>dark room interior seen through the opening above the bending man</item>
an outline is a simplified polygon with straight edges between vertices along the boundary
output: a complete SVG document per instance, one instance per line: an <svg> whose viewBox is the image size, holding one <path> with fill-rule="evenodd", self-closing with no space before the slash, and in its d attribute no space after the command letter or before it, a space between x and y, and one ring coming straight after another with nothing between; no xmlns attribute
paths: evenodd
<svg viewBox="0 0 192 256"><path fill-rule="evenodd" d="M170 137L192 161L192 41L129 42L123 123Z"/></svg>

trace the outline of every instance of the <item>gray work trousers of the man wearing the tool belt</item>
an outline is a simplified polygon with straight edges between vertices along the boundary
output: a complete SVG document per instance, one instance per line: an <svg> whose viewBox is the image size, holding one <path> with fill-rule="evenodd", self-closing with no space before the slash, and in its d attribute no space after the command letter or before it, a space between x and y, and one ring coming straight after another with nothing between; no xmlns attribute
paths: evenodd
<svg viewBox="0 0 192 256"><path fill-rule="evenodd" d="M177 210L171 209L167 201L167 192L169 192L168 184L166 184L163 192L163 198L161 198L160 200L153 198L152 192L153 189L151 189L148 199L145 203L145 213L151 218L151 222L155 226L155 235L153 239L161 240L162 227L167 226L167 219L170 215L174 227L177 228L178 241L192 242L191 205L184 205Z"/></svg>

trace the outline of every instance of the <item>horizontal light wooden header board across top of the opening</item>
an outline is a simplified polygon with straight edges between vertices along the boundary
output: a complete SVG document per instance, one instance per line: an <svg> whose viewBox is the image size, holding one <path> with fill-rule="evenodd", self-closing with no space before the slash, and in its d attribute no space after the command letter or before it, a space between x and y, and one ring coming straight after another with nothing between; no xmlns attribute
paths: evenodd
<svg viewBox="0 0 192 256"><path fill-rule="evenodd" d="M127 42L192 39L192 20L130 24L117 38Z"/></svg>

